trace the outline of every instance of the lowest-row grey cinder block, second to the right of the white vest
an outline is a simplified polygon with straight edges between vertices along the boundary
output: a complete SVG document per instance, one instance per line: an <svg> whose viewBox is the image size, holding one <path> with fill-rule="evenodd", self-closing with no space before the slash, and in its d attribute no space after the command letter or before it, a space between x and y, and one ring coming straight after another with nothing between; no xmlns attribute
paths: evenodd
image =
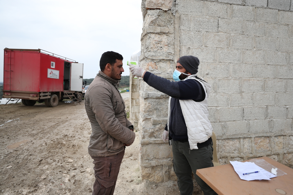
<svg viewBox="0 0 293 195"><path fill-rule="evenodd" d="M245 120L226 122L225 134L247 134L249 130L249 122Z"/></svg>

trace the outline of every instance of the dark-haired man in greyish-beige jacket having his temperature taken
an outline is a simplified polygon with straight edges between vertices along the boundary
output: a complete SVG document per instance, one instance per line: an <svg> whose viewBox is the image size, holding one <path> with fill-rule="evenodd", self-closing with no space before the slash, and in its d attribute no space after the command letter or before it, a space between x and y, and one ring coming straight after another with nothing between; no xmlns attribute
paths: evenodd
<svg viewBox="0 0 293 195"><path fill-rule="evenodd" d="M100 59L100 71L84 96L92 134L88 153L93 158L96 181L92 195L113 195L125 146L135 138L127 120L125 103L118 91L122 55L107 51Z"/></svg>

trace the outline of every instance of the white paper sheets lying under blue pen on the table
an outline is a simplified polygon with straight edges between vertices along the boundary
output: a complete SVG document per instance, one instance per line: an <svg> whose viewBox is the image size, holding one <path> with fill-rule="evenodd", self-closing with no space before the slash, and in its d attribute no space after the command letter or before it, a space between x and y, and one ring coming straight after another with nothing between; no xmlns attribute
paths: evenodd
<svg viewBox="0 0 293 195"><path fill-rule="evenodd" d="M239 175L241 180L251 181L251 180L270 180L273 174L260 168L259 166L255 165L251 162L238 162L238 161L230 161L231 165L233 166L235 172ZM251 173L259 171L257 173ZM251 173L249 175L243 175L243 173ZM271 174L271 175L270 175ZM273 175L273 176L272 176Z"/></svg>

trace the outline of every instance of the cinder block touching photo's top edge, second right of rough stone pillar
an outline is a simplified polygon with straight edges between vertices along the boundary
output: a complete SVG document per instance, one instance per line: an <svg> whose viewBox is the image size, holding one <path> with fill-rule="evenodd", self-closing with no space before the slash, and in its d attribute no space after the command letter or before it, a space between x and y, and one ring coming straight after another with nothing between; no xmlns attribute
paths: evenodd
<svg viewBox="0 0 293 195"><path fill-rule="evenodd" d="M230 5L205 1L204 14L219 18L229 18Z"/></svg>

